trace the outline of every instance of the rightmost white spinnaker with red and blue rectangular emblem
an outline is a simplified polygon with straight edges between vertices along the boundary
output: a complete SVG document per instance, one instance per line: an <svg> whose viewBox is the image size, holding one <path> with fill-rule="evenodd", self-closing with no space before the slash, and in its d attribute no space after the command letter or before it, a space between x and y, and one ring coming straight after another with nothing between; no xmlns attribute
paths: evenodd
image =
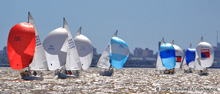
<svg viewBox="0 0 220 94"><path fill-rule="evenodd" d="M197 55L202 67L211 67L214 61L214 50L213 47L207 42L200 42L196 47ZM202 58L202 51L208 52L209 57Z"/></svg>

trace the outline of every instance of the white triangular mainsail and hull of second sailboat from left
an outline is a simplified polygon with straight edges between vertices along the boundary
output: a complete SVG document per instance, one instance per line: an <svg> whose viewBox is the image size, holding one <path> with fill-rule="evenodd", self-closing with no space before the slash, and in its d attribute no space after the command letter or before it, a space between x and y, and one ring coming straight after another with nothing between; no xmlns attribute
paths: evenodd
<svg viewBox="0 0 220 94"><path fill-rule="evenodd" d="M61 69L56 71L56 75L58 78L65 79L65 78L76 78L78 75L74 74L73 71L81 69L80 58L74 43L74 39L72 34L69 30L69 26L63 18L63 28L67 30L67 39L64 42L61 51L67 52L66 55L66 63L65 66L61 66Z"/></svg>

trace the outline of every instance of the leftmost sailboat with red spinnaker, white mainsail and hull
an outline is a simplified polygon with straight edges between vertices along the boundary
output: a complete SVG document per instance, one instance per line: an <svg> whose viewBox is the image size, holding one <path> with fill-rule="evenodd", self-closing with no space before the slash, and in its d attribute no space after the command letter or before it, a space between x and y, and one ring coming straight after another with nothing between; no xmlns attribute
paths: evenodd
<svg viewBox="0 0 220 94"><path fill-rule="evenodd" d="M28 12L28 22L16 24L11 28L8 36L7 49L12 69L24 69L29 67L31 62L32 64L29 67L31 70L47 69L39 33L30 12ZM42 56L39 56L39 54L42 54ZM38 61L36 62L36 60ZM36 77L31 76L30 71L20 72L21 78L24 80L43 80L42 75Z"/></svg>

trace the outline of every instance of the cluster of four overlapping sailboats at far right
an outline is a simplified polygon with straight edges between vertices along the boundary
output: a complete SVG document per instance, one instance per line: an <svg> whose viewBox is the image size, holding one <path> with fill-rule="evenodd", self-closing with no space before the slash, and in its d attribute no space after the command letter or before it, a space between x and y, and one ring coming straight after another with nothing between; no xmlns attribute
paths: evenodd
<svg viewBox="0 0 220 94"><path fill-rule="evenodd" d="M175 69L183 69L184 73L192 73L194 70L198 71L199 75L208 75L207 68L211 67L213 62L213 47L203 42L203 37L196 49L190 44L186 50L174 45L174 41L171 44L165 43L163 38L159 47L156 70L164 74L174 74Z"/></svg>

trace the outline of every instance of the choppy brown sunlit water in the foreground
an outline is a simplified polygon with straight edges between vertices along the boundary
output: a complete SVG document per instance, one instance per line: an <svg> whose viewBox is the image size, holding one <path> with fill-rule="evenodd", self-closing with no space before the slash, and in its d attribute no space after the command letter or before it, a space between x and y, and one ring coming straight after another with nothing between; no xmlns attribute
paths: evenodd
<svg viewBox="0 0 220 94"><path fill-rule="evenodd" d="M80 73L80 78L57 79L43 72L43 81L20 80L19 72L0 67L0 94L7 93L219 93L220 69L209 69L208 76L177 71L174 75L156 73L151 68L123 68L112 77L100 76L99 69Z"/></svg>

